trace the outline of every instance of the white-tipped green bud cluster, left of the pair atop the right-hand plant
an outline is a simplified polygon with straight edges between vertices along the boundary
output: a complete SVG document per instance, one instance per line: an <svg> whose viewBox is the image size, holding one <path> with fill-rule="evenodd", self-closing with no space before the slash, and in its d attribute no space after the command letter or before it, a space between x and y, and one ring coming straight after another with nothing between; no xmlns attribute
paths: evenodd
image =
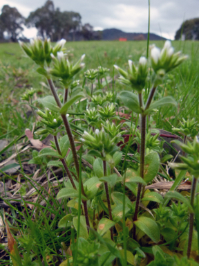
<svg viewBox="0 0 199 266"><path fill-rule="evenodd" d="M129 69L124 71L120 67L114 65L115 69L120 73L120 81L125 85L131 85L133 89L141 92L146 83L148 75L147 60L144 56L140 57L138 67L135 67L133 61L129 60Z"/></svg>

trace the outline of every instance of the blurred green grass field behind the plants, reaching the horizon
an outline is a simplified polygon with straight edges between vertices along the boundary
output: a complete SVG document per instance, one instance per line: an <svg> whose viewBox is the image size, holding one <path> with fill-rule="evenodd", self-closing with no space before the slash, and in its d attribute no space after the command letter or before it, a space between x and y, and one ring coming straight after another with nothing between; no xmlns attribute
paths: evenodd
<svg viewBox="0 0 199 266"><path fill-rule="evenodd" d="M153 44L153 42L151 42ZM164 42L155 42L157 46L162 48ZM165 79L165 86L162 90L158 89L158 94L165 96L173 96L178 102L178 113L172 118L172 110L169 113L164 110L158 112L155 122L157 127L162 127L166 130L171 130L173 126L178 125L178 120L184 118L198 119L198 100L199 100L199 42L173 42L176 51L189 55L189 60L184 62L178 69L169 73ZM113 64L120 67L128 67L128 60L138 62L140 56L146 56L146 42L68 42L66 48L70 55L70 60L76 60L82 54L86 54L86 67L79 74L78 78L83 78L86 69L95 69L99 65L110 69L110 76L113 76ZM4 135L13 129L11 135L6 136L8 139L11 136L17 136L21 131L24 131L28 124L22 123L15 116L20 116L26 112L24 105L20 105L20 96L30 87L40 91L41 96L44 96L46 88L40 82L46 82L42 76L38 76L35 72L37 67L32 61L24 55L19 44L0 44L0 63L1 63L1 87L0 87L0 128L1 135ZM116 75L116 73L115 73ZM121 91L124 86L115 84L114 89ZM158 94L156 97L158 97ZM15 110L15 114L13 113ZM169 123L163 123L164 118L168 118ZM168 119L167 119L168 120ZM14 134L14 135L13 135Z"/></svg>

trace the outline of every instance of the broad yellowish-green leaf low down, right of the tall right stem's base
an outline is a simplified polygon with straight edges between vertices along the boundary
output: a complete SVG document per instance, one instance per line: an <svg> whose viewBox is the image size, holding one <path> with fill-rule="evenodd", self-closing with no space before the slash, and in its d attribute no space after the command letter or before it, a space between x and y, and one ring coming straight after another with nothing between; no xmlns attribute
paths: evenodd
<svg viewBox="0 0 199 266"><path fill-rule="evenodd" d="M148 217L141 216L134 222L136 227L146 233L153 242L157 243L160 240L160 230L155 221Z"/></svg>

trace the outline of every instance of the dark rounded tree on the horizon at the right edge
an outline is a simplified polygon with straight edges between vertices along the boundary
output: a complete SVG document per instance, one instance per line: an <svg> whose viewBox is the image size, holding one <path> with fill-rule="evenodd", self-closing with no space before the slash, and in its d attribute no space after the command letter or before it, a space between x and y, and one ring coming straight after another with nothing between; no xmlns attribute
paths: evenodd
<svg viewBox="0 0 199 266"><path fill-rule="evenodd" d="M189 19L176 31L175 39L199 39L199 18Z"/></svg>

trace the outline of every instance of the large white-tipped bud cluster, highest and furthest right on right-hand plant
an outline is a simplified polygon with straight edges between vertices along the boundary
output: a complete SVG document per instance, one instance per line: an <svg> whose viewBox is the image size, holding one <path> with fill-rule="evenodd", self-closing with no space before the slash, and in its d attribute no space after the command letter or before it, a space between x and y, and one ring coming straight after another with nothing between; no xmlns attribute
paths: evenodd
<svg viewBox="0 0 199 266"><path fill-rule="evenodd" d="M174 53L174 48L171 46L170 41L165 42L162 51L156 46L151 49L151 64L155 73L162 73L163 75L178 67L186 59L187 55L181 55L180 52Z"/></svg>

